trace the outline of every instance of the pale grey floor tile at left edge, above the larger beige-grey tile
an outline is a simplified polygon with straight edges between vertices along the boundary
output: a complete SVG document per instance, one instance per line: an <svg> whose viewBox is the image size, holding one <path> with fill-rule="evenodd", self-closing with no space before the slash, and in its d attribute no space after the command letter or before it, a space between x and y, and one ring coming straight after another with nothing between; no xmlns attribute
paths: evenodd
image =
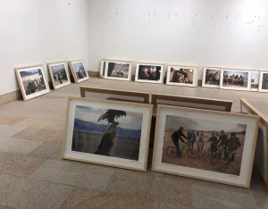
<svg viewBox="0 0 268 209"><path fill-rule="evenodd" d="M43 141L33 141L22 138L0 137L0 152L28 155L43 143Z"/></svg>

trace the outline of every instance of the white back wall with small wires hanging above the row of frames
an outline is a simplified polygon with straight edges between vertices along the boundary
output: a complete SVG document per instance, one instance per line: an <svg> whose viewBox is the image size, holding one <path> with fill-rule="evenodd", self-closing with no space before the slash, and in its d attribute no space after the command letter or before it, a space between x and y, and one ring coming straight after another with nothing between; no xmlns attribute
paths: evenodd
<svg viewBox="0 0 268 209"><path fill-rule="evenodd" d="M89 0L88 69L102 58L268 69L268 1Z"/></svg>

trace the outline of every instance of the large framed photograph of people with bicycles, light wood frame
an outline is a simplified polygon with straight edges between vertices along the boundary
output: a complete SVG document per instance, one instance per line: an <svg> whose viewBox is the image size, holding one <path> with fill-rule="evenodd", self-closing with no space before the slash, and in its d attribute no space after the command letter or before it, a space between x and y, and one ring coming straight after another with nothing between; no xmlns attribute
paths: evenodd
<svg viewBox="0 0 268 209"><path fill-rule="evenodd" d="M249 188L259 117L158 105L153 170Z"/></svg>

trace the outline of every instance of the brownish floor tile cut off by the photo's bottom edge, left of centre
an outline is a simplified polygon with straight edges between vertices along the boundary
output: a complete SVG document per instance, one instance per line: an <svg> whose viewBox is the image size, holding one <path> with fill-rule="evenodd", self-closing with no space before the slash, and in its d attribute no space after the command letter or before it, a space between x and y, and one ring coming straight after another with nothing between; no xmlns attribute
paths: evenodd
<svg viewBox="0 0 268 209"><path fill-rule="evenodd" d="M121 194L105 193L89 189L74 189L61 209L156 209L155 201L138 196L124 196Z"/></svg>

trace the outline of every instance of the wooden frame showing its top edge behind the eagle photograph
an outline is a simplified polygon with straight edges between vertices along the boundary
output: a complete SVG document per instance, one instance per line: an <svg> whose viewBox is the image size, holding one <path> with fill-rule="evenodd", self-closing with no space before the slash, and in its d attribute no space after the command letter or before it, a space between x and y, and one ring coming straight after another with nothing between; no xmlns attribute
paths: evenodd
<svg viewBox="0 0 268 209"><path fill-rule="evenodd" d="M132 102L132 103L150 103L150 93L138 91L126 91L121 89L108 89L108 88L93 88L93 87L80 87L80 96L87 97L86 93L97 93L111 95L107 97L108 100ZM137 98L135 100L135 98ZM140 99L138 99L140 98Z"/></svg>

